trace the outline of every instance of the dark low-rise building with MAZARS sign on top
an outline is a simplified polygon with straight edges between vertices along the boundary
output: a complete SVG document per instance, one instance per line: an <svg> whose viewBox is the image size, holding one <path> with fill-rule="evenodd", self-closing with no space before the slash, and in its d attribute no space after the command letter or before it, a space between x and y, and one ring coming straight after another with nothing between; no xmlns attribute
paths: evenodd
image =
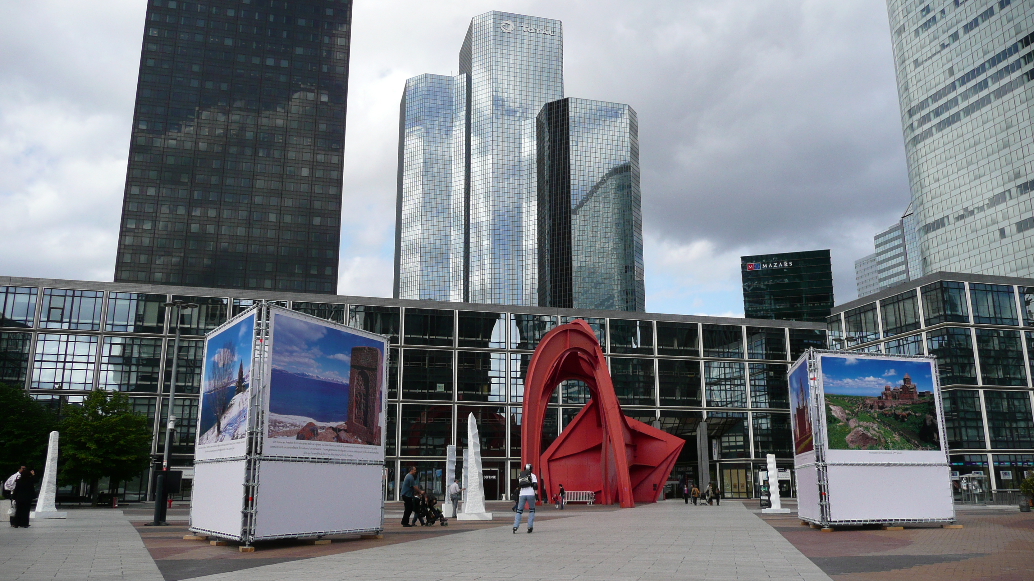
<svg viewBox="0 0 1034 581"><path fill-rule="evenodd" d="M740 256L749 318L821 322L833 306L829 250Z"/></svg>

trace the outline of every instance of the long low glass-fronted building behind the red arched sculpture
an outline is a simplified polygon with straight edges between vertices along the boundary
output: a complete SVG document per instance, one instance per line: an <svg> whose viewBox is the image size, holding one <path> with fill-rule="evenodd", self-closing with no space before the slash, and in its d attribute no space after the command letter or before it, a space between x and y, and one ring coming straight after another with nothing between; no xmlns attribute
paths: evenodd
<svg viewBox="0 0 1034 581"><path fill-rule="evenodd" d="M173 299L201 307L176 322L162 307ZM204 334L256 300L390 337L390 499L397 499L406 465L416 465L421 486L440 496L446 446L466 446L469 414L479 422L484 469L503 483L488 497L506 497L520 465L531 354L549 330L576 317L596 332L625 414L687 439L672 482L699 476L703 424L708 478L721 478L731 497L755 496L766 454L792 465L788 365L809 347L826 346L825 326L813 323L0 277L0 305L9 305L0 320L0 380L55 407L74 405L90 390L125 393L151 420L152 453L160 454L165 442L157 431L166 421L178 326L173 409L179 420L171 452L189 484ZM587 400L577 381L557 387L544 447ZM143 499L148 482L142 475L121 494Z"/></svg>

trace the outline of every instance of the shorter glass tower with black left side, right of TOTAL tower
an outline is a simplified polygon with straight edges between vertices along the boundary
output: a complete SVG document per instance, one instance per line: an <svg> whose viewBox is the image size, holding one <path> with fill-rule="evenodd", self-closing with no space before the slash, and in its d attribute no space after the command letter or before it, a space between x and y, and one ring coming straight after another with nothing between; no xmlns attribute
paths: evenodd
<svg viewBox="0 0 1034 581"><path fill-rule="evenodd" d="M645 311L635 110L560 99L537 131L539 305Z"/></svg>

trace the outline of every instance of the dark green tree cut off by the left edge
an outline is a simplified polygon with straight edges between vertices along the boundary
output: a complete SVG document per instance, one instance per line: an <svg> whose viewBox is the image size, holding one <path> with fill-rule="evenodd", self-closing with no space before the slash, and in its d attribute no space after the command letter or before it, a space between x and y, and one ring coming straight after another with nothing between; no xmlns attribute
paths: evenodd
<svg viewBox="0 0 1034 581"><path fill-rule="evenodd" d="M0 478L22 464L39 475L47 460L47 444L56 419L25 390L0 384Z"/></svg>

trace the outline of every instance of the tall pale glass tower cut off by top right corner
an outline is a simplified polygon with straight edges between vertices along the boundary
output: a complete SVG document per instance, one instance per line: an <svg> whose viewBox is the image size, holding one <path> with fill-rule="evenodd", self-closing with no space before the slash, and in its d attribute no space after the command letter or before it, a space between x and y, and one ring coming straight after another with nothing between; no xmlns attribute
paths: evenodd
<svg viewBox="0 0 1034 581"><path fill-rule="evenodd" d="M1034 275L1034 5L887 9L921 271Z"/></svg>

